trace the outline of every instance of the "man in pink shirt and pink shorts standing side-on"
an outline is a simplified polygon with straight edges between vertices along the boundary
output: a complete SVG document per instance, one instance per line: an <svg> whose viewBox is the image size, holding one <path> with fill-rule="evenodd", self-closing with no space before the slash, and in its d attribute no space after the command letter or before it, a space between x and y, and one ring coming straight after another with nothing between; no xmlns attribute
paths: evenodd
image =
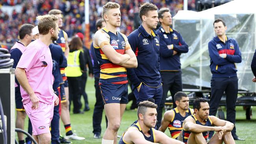
<svg viewBox="0 0 256 144"><path fill-rule="evenodd" d="M52 89L52 56L49 45L58 38L58 17L38 16L39 39L31 42L20 57L15 76L20 83L22 103L39 144L50 144L50 122L59 98Z"/></svg>

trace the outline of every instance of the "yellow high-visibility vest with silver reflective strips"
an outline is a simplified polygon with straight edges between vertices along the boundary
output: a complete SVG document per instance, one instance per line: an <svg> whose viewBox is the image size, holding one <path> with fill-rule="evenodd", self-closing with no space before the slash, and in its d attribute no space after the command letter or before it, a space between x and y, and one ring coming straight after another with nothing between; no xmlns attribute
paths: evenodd
<svg viewBox="0 0 256 144"><path fill-rule="evenodd" d="M82 76L79 55L82 50L76 50L74 52L69 52L69 57L67 60L67 68L65 68L65 73L67 77L78 77Z"/></svg>

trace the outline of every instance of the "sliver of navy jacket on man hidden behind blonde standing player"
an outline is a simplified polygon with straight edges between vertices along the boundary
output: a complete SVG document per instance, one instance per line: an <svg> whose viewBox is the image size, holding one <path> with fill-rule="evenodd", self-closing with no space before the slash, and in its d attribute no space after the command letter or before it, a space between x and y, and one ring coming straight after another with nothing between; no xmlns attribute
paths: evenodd
<svg viewBox="0 0 256 144"><path fill-rule="evenodd" d="M93 42L91 43L90 48L90 56L91 56L91 62L93 64L93 74L95 78L100 78L100 65L98 63L98 59L96 58L94 48L93 48Z"/></svg>

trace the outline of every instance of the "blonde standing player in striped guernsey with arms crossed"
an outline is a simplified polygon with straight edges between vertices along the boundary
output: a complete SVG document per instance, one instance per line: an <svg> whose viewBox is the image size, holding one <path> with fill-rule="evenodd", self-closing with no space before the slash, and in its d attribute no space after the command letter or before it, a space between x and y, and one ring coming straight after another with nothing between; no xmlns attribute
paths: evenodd
<svg viewBox="0 0 256 144"><path fill-rule="evenodd" d="M120 6L108 2L102 10L106 27L95 33L93 46L100 64L100 91L108 118L102 144L117 142L117 131L128 103L126 68L136 68L137 59L127 37L117 31L121 24Z"/></svg>

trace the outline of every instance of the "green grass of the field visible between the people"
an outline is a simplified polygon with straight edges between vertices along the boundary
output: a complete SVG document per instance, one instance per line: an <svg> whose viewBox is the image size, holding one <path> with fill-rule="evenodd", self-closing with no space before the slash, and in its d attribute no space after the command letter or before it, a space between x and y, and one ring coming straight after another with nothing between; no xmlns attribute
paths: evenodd
<svg viewBox="0 0 256 144"><path fill-rule="evenodd" d="M90 111L85 112L84 114L73 114L70 113L70 120L72 130L76 131L78 136L85 137L84 141L71 140L73 144L101 144L101 139L93 138L93 108L95 104L95 88L94 88L94 79L88 78L86 91L89 100ZM129 90L130 91L130 90ZM83 99L82 99L83 103ZM131 103L128 103L127 109L130 109ZM84 106L84 105L83 105ZM82 108L83 109L83 108ZM240 138L246 138L245 141L236 141L236 144L256 144L254 129L256 128L256 115L252 114L252 120L246 120L245 111L243 107L236 107L236 129L237 135ZM226 111L226 110L224 110ZM253 107L253 112L256 111L256 107ZM226 114L225 114L226 115ZM118 135L122 135L125 129L130 126L137 119L136 111L134 110L126 110L124 112L124 116L122 118L121 126L118 131ZM27 122L25 123L27 124ZM27 125L25 126L27 129ZM104 116L102 117L102 132L101 136L103 136L104 131L106 129L106 122ZM170 136L168 130L165 133ZM61 134L65 134L65 129L63 124L61 123Z"/></svg>

